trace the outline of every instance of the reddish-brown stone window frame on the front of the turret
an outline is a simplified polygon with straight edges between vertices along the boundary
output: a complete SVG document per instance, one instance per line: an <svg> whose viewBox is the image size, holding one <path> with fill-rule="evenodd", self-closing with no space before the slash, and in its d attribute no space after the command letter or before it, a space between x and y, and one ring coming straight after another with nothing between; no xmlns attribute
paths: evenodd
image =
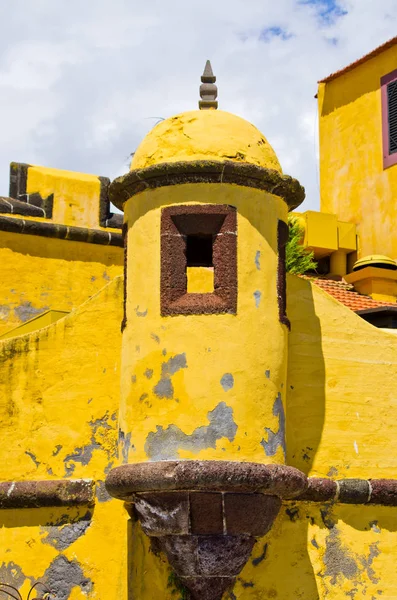
<svg viewBox="0 0 397 600"><path fill-rule="evenodd" d="M213 236L214 291L187 292L186 238ZM161 211L162 316L237 313L237 210L227 204L176 205Z"/></svg>

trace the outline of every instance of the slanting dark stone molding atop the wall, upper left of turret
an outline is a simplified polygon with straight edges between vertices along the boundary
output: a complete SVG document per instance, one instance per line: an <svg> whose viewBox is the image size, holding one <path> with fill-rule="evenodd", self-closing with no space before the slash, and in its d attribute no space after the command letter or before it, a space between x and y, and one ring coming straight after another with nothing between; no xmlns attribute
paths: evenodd
<svg viewBox="0 0 397 600"><path fill-rule="evenodd" d="M73 242L86 242L102 246L123 247L121 233L89 229L88 227L72 227L56 223L43 223L42 221L25 221L14 217L0 216L0 231L9 233L24 233L41 237L58 238Z"/></svg>

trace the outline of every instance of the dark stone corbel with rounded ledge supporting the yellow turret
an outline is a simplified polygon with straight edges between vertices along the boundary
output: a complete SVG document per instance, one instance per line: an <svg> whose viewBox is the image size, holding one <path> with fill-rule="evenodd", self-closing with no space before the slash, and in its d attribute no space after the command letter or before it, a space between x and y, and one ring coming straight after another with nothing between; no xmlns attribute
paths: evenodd
<svg viewBox="0 0 397 600"><path fill-rule="evenodd" d="M303 494L307 478L282 465L162 461L116 467L106 488L135 504L143 531L192 598L220 600L255 538L272 527L282 500Z"/></svg>

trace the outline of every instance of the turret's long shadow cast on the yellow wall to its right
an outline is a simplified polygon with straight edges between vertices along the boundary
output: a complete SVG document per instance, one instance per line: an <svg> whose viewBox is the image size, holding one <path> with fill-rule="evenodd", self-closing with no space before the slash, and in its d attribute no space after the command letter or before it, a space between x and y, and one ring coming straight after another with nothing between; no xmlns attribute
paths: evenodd
<svg viewBox="0 0 397 600"><path fill-rule="evenodd" d="M311 284L295 275L288 275L287 292L291 332L286 395L286 461L309 475L320 444L325 415L321 326L315 312ZM302 518L294 506L286 508L285 516L285 537L293 540L291 544L285 544L285 576L290 581L291 590L291 596L286 598L300 597L302 574L305 573L304 597L317 600L319 595L307 548L310 519Z"/></svg>

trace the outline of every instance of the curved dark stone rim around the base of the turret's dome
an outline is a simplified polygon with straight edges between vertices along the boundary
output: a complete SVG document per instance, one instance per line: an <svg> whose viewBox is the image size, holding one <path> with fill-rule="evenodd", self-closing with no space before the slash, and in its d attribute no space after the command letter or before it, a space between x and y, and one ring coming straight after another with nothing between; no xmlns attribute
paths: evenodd
<svg viewBox="0 0 397 600"><path fill-rule="evenodd" d="M305 199L304 187L289 175L231 160L159 163L130 171L111 183L109 199L117 208L123 210L123 205L129 198L146 189L184 183L234 183L256 188L281 196L289 210L299 206Z"/></svg>

